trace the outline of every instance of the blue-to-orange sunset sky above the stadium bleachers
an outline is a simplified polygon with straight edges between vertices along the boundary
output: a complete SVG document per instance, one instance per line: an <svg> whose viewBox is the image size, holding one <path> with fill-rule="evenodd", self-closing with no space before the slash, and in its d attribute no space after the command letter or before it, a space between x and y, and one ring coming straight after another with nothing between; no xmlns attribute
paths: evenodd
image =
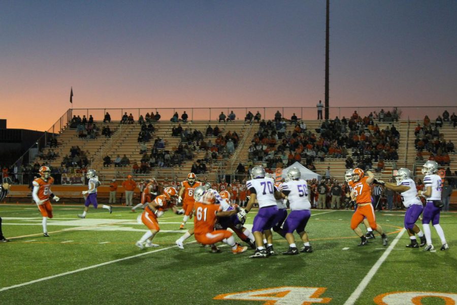
<svg viewBox="0 0 457 305"><path fill-rule="evenodd" d="M330 105L455 106L455 20L455 1L331 1ZM8 128L47 130L71 86L74 108L324 100L324 0L0 0L0 47Z"/></svg>

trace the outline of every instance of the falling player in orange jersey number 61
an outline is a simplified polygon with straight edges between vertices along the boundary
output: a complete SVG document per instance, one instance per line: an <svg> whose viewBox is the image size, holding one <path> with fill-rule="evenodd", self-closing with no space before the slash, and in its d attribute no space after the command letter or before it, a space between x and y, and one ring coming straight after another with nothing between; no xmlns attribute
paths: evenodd
<svg viewBox="0 0 457 305"><path fill-rule="evenodd" d="M227 230L214 230L217 217L230 217L235 215L238 209L222 211L220 204L215 204L214 193L208 192L205 187L198 187L194 194L195 219L193 220L193 230L195 240L202 245L214 245L216 242L225 242L232 247L232 253L243 253L247 247L240 247L235 242L232 232Z"/></svg>

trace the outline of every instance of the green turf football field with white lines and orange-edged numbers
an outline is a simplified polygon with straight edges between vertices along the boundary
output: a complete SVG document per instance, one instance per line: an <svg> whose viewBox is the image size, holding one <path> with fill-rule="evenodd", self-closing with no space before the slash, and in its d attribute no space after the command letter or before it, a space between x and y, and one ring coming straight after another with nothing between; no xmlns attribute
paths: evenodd
<svg viewBox="0 0 457 305"><path fill-rule="evenodd" d="M184 250L175 240L182 216L159 219L158 248L140 250L146 231L138 213L115 207L89 210L54 205L43 237L35 205L0 205L0 304L454 304L457 301L457 214L441 214L449 249L432 228L434 252L409 249L404 211L376 212L389 236L368 246L349 227L351 211L312 210L307 226L313 253L284 256L287 242L274 234L278 255L250 259L219 245L213 254L193 236ZM249 213L250 227L255 215ZM362 225L363 226L363 225ZM192 227L188 222L187 227ZM419 227L421 224L419 222ZM365 232L365 228L362 227ZM238 238L237 238L238 239ZM296 237L297 246L303 243ZM239 241L239 240L238 240Z"/></svg>

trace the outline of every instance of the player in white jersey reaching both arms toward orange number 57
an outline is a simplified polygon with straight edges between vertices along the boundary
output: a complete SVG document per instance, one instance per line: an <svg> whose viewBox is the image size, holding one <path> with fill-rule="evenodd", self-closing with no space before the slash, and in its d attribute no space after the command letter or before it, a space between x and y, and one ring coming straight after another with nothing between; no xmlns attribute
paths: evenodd
<svg viewBox="0 0 457 305"><path fill-rule="evenodd" d="M404 225L411 240L410 244L406 245L406 247L423 247L426 244L426 237L415 224L423 210L422 202L417 198L416 184L411 179L411 172L407 168L400 168L398 170L396 180L397 184L380 180L377 182L385 188L401 194L403 205L406 207ZM420 245L417 243L415 234L420 238Z"/></svg>

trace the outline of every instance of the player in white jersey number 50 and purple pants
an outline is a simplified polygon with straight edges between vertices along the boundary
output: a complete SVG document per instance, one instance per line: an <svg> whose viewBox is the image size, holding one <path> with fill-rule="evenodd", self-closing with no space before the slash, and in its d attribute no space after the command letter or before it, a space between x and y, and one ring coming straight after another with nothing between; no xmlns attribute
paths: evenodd
<svg viewBox="0 0 457 305"><path fill-rule="evenodd" d="M295 244L293 231L302 238L304 243L300 252L313 252L309 244L308 234L305 231L306 224L311 217L311 203L308 199L308 185L306 180L301 178L301 172L298 168L292 167L287 171L288 181L282 184L282 195L289 201L290 214L284 222L283 231L285 238L289 243L289 249L283 252L284 255L297 255L299 251Z"/></svg>

